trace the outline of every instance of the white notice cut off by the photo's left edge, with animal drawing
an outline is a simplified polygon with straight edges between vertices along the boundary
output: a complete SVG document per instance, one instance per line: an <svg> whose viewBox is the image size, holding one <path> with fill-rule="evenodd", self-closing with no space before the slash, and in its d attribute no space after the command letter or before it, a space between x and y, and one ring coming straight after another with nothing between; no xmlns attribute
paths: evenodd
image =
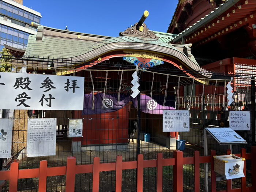
<svg viewBox="0 0 256 192"><path fill-rule="evenodd" d="M0 159L10 158L12 150L12 119L0 118Z"/></svg>

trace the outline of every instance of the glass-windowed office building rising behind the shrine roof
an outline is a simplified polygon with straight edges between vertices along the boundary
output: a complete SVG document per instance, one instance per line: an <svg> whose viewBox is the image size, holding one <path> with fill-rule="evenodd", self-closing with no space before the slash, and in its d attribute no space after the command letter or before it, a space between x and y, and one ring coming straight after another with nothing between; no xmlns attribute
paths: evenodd
<svg viewBox="0 0 256 192"><path fill-rule="evenodd" d="M0 49L5 45L26 49L30 34L36 34L31 22L40 24L41 14L11 0L0 0Z"/></svg>

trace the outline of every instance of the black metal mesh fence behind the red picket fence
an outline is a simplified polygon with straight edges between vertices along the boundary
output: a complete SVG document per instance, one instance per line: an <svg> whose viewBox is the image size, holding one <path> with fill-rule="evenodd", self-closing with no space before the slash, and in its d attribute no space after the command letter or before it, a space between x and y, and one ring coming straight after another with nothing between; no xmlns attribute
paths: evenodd
<svg viewBox="0 0 256 192"><path fill-rule="evenodd" d="M229 127L229 110L251 111L252 117L255 117L253 76L241 77L214 73L213 79L204 79L201 75L202 71L200 73L186 71L185 74L184 71L172 65L158 65L148 71L139 70L140 97L138 96L138 98L143 99L145 95L150 98L150 102L148 99L146 100L149 106L147 111L140 107L139 102L137 102L137 106L133 105L131 99L131 81L135 66L121 63L118 59L89 63L65 59L2 57L0 67L3 66L2 70L10 68L11 72L83 76L85 95L93 94L96 99L98 94L103 94L108 95L109 98L110 96L115 99L119 98L120 101L124 101L126 98L130 100L126 105L118 106L119 108L111 113L97 112L97 110L102 110L102 105L96 104L94 110L84 108L83 111L1 109L0 118L14 120L12 158L0 159L1 170L9 169L10 162L14 159L18 160L20 169L31 169L39 167L39 161L43 159L48 161L49 166L66 165L69 156L76 157L77 164L90 164L94 157L100 157L102 162L115 162L117 155L122 155L123 161L136 160L138 154L143 154L145 159L156 159L157 153L163 153L164 158L172 158L173 150L177 148L184 151L184 157L192 157L196 150L200 151L200 155L204 155L203 129L205 127ZM231 80L231 78L234 79ZM226 84L230 80L235 95L234 102L228 106ZM1 90L0 94L4 94L4 90ZM95 103L97 102L95 101ZM108 101L104 105L109 109L111 103ZM176 110L189 110L190 131L163 132L162 114L150 113L150 110L156 107L155 105L169 106ZM58 119L56 155L26 157L28 118ZM69 118L83 118L83 137L68 138ZM238 131L248 144L233 146L232 153L241 153L241 148L246 148L246 151L249 152L255 141L253 121L251 127L251 131ZM131 135L133 138L128 142ZM177 146L176 140L178 139L184 140L186 143L184 148ZM211 149L217 150L218 154L225 154L227 146L220 146L215 140L208 139L208 150ZM250 166L249 162L246 163L248 174ZM172 170L172 166L163 168L163 191L173 191ZM143 189L145 192L157 191L156 173L156 167L144 169ZM202 164L200 167L201 189L204 189L204 174L204 165ZM193 175L193 165L184 165L184 191L194 190ZM250 177L246 178L250 185ZM92 179L90 173L77 174L75 191L92 191ZM8 182L2 181L1 184L3 191L8 191ZM234 188L240 187L240 185L241 179L233 180ZM225 189L226 180L218 181L217 187ZM19 191L37 191L38 178L20 179L18 188ZM99 191L114 190L115 172L102 172ZM47 191L65 191L65 176L48 177ZM136 170L123 171L122 191L136 191Z"/></svg>

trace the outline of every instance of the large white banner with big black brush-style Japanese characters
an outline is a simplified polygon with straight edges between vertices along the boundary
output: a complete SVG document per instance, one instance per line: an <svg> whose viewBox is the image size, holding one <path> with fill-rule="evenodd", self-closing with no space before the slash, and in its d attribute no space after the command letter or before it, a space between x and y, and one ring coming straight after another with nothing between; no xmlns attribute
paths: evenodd
<svg viewBox="0 0 256 192"><path fill-rule="evenodd" d="M0 109L83 110L84 77L0 72Z"/></svg>

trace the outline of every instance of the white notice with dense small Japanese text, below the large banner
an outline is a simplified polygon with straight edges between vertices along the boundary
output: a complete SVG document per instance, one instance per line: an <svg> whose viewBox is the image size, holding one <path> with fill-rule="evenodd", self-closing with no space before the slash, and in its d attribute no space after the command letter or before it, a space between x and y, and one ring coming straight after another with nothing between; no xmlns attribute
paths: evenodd
<svg viewBox="0 0 256 192"><path fill-rule="evenodd" d="M27 121L27 157L55 155L56 118L31 118Z"/></svg>

